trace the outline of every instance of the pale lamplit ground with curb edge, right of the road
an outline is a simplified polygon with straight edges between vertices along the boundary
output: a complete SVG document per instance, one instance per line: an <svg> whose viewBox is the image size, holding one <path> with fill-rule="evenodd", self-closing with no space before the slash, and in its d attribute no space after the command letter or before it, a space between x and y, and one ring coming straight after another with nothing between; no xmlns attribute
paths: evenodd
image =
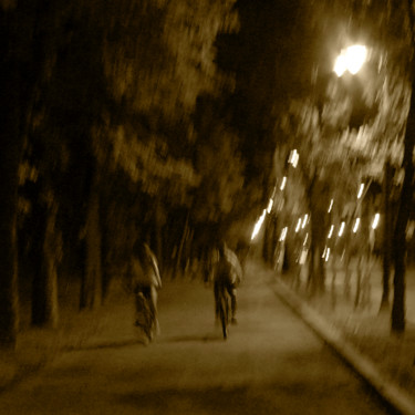
<svg viewBox="0 0 415 415"><path fill-rule="evenodd" d="M328 272L325 293L311 299L305 278L300 283L292 274L273 271L273 289L279 298L297 312L330 344L377 393L402 414L415 414L415 270L406 274L406 332L402 339L390 334L390 312L380 314L382 268L374 264L370 282L355 305L356 277L350 281L349 298L344 295L344 273L335 279ZM393 287L391 287L391 291ZM390 300L392 303L392 299Z"/></svg>

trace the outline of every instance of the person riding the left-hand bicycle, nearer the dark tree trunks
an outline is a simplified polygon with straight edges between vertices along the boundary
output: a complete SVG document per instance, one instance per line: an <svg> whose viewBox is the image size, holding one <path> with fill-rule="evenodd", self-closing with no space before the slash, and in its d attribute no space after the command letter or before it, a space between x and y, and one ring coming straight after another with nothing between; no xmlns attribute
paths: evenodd
<svg viewBox="0 0 415 415"><path fill-rule="evenodd" d="M147 243L137 242L135 245L131 267L133 292L136 295L136 324L138 324L139 313L143 312L143 310L138 310L141 304L138 295L142 293L147 300L153 317L154 331L158 334L157 291L162 288L162 279L156 256Z"/></svg>

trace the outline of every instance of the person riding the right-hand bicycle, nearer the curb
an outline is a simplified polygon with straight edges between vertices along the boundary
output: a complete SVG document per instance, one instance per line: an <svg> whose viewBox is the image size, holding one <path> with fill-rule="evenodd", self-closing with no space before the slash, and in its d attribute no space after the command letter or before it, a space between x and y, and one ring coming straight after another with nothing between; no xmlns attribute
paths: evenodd
<svg viewBox="0 0 415 415"><path fill-rule="evenodd" d="M217 259L214 263L214 294L215 317L219 317L220 290L226 290L230 297L231 324L237 323L237 287L242 279L242 268L236 253L228 248L225 241L219 245Z"/></svg>

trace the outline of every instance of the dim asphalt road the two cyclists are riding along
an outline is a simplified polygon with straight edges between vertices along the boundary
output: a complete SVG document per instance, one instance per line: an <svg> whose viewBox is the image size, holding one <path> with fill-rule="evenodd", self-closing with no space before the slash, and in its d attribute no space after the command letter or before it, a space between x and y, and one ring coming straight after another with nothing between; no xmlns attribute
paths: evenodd
<svg viewBox="0 0 415 415"><path fill-rule="evenodd" d="M162 333L118 331L61 355L0 395L0 414L386 414L381 402L251 268L224 341L211 290L165 282ZM125 305L125 312L131 309Z"/></svg>

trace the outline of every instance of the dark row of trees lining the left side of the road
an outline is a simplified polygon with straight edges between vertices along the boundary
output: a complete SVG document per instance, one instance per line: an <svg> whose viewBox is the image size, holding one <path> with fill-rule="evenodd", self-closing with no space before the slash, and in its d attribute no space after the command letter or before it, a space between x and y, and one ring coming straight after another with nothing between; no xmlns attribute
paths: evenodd
<svg viewBox="0 0 415 415"><path fill-rule="evenodd" d="M0 2L2 344L19 282L32 281L32 323L56 326L60 276L94 308L135 240L167 272L249 218L261 196L224 110L235 76L215 61L234 3Z"/></svg>

